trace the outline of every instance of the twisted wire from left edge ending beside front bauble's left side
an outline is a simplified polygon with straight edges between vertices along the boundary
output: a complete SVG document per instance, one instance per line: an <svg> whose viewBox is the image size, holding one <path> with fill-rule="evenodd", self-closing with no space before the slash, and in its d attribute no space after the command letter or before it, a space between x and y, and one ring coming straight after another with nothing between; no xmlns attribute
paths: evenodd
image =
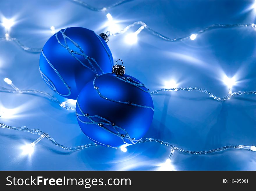
<svg viewBox="0 0 256 191"><path fill-rule="evenodd" d="M69 107L66 105L63 105L61 101L59 101L56 97L54 97L52 94L49 94L47 92L43 92L40 90L13 90L13 89L8 89L0 86L0 92L5 92L5 93L13 93L13 94L30 94L30 95L39 95L41 97L45 97L49 99L50 101L53 101L57 103L59 106L66 110L75 110L75 107Z"/></svg>

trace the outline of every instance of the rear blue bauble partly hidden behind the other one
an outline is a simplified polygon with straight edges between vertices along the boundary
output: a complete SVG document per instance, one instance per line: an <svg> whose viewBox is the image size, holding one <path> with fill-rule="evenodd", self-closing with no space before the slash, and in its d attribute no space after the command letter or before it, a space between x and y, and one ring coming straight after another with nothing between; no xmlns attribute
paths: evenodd
<svg viewBox="0 0 256 191"><path fill-rule="evenodd" d="M88 81L111 72L113 58L106 44L107 36L102 34L71 27L60 30L45 43L39 70L53 91L77 99Z"/></svg>

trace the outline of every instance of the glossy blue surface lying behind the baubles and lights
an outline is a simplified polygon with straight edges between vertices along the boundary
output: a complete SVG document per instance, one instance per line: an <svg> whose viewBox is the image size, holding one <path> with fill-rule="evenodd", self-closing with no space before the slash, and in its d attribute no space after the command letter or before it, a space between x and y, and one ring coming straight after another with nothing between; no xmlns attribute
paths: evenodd
<svg viewBox="0 0 256 191"><path fill-rule="evenodd" d="M88 1L95 7L116 1ZM168 37L188 36L214 23L254 23L253 0L234 1L131 1L111 8L119 29L143 21ZM106 27L106 12L94 12L68 1L0 1L1 16L15 17L10 30L29 47L41 48L52 35L49 28L80 26L98 34ZM138 27L131 28L134 32ZM0 28L4 37L5 29ZM223 76L235 76L233 91L256 88L255 39L253 28L211 30L194 41L167 42L146 30L134 45L125 43L126 34L111 37L108 46L113 59L122 59L127 74L142 81L150 90L164 88L175 79L179 87L200 87L219 97L227 95ZM39 55L25 52L14 42L0 42L0 79L9 77L20 89L52 93L40 76ZM0 86L6 83L0 80ZM57 95L56 95L57 96ZM64 101L64 98L58 96ZM255 145L254 95L239 96L223 103L200 92L164 92L153 96L154 119L145 137L168 141L186 150L209 150L225 145ZM1 123L48 132L69 147L91 143L80 130L74 111L66 111L47 99L25 94L0 94L0 108L13 109L11 119ZM21 155L20 146L37 135L0 129L0 170L158 170L170 148L157 143L128 147L127 152L106 147L66 152L46 139L35 147L31 157ZM175 152L176 170L256 170L256 154L227 150L211 155L191 156Z"/></svg>

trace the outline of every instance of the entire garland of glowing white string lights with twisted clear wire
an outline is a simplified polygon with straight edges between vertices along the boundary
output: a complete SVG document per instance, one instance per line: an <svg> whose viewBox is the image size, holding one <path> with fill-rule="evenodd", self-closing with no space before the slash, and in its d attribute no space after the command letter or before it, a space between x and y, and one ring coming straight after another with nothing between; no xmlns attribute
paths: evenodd
<svg viewBox="0 0 256 191"><path fill-rule="evenodd" d="M106 11L110 8L114 8L116 6L119 6L123 3L127 3L129 1L133 1L133 0L121 0L118 1L117 3L114 3L110 6L107 7L103 7L103 8L95 8L93 6L88 5L87 3L81 1L81 0L71 0L75 3L78 3L79 5L88 8L89 10L93 10L93 11ZM106 14L106 17L109 21L113 22L113 17L110 13ZM6 34L5 37L0 38L1 40L5 40L5 41L13 41L15 42L20 48L22 48L23 50L30 52L30 53L40 53L42 51L42 48L30 48L25 46L24 44L22 44L19 40L17 40L16 38L10 37L9 31L10 28L15 24L15 21L13 19L4 19L2 22L2 25L4 26L4 28L6 29ZM126 26L124 29L118 31L118 32L113 32L113 33L109 33L108 37L111 36L116 36L118 34L123 34L125 32L127 32L130 28L139 25L140 27L133 33L129 33L126 37L125 40L127 41L127 43L133 44L137 42L137 36L138 34L146 29L147 31L149 31L152 35L159 37L165 41L169 41L169 42L176 42L176 41L185 41L185 40L195 40L197 39L198 35L207 32L209 30L214 30L214 29L220 29L220 28L247 28L247 27L251 27L251 28L255 28L256 25L254 23L248 23L248 24L212 24L202 30L199 30L193 34L190 34L189 36L185 36L185 37L178 37L178 38L170 38L170 37L166 37L163 34L153 30L152 28L150 28L146 23L144 23L143 21L136 21L128 26ZM55 27L51 26L50 27L51 33L55 33ZM5 92L5 93L13 93L13 94L30 94L30 95L40 95L42 97L45 97L47 99L49 99L50 101L53 101L55 103L57 103L60 107L65 108L66 110L75 110L75 107L70 107L67 106L68 104L71 105L75 105L76 104L76 100L67 100L67 101L59 101L56 97L54 97L53 95L44 92L44 91L40 91L40 90L20 90L19 88L17 88L10 79L5 78L4 81L10 85L13 89L8 89L8 88L4 88L0 86L0 92ZM211 92L207 91L206 89L202 89L202 88L198 88L198 87L187 87L187 88L181 88L181 87L176 87L176 88L162 88L160 90L154 90L152 92L150 92L151 95L154 94L158 94L160 92L170 92L170 91L198 91L198 92L202 92L207 94L210 98L216 100L216 101L225 101L227 99L230 99L234 96L239 96L239 95L249 95L249 94L256 94L256 91L238 91L238 92L232 92L232 86L234 86L235 84L235 80L234 78L227 78L225 79L225 84L227 85L227 87L229 88L228 91L228 95L221 98L221 97L217 97L216 95L212 94ZM0 118L2 117L1 113L0 113ZM8 126L4 123L0 123L0 128L6 128L6 129L12 129L12 130L18 130L18 131L23 131L23 132L30 132L32 134L38 134L40 135L40 137L38 137L38 139L36 139L35 141L33 141L30 144L24 145L22 147L22 150L24 151L24 154L32 154L34 147L37 143L39 143L42 139L46 138L49 141L51 141L54 145L63 148L65 150L68 151L77 151L77 150L82 150L85 148L90 148L90 147L95 147L98 146L99 144L97 143L90 143L90 144L86 144L86 145L80 145L77 147L67 147L65 145L61 145L60 143L56 142L52 137L49 136L48 133L43 132L40 129L29 129L26 126L22 126L22 127L14 127L14 126ZM170 154L169 157L166 159L166 162L163 163L161 165L161 167L167 168L168 170L174 170L173 166L171 165L171 159L173 157L173 154L176 151L179 151L181 153L184 154L190 154L190 155L203 155L203 154L212 154L212 153L216 153L216 152L221 152L227 149L238 149L238 150L247 150L247 151L254 151L256 152L256 146L246 146L246 145L228 145L228 146L224 146L221 148L217 148L217 149L212 149L212 150L205 150L205 151L190 151L190 150L184 150L182 148L176 147L174 145L172 145L171 143L168 142L164 142L163 140L160 139L154 139L154 138L145 138L143 140L138 141L137 143L146 143L146 142L156 142L159 143L161 145L165 145L167 147L170 147ZM127 148L125 147L121 147L120 148L121 151L123 152L127 152Z"/></svg>

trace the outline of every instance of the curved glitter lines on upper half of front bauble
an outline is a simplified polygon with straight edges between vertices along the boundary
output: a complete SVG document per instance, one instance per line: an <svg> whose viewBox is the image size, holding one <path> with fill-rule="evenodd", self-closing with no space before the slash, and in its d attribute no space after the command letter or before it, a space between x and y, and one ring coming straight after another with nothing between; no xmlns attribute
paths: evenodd
<svg viewBox="0 0 256 191"><path fill-rule="evenodd" d="M93 80L93 86L94 86L94 89L97 91L97 93L99 94L100 97L102 97L103 99L106 99L106 100L109 100L109 101L113 101L113 102L116 102L116 103L122 103L122 104L127 104L127 105L134 105L134 106L137 106L137 107L141 107L141 108L149 108L149 109L152 109L154 111L154 108L150 107L150 106L145 106L145 105L139 105L139 104L135 104L135 103L131 103L130 101L127 101L127 102L124 102L124 101L118 101L118 100L114 100L114 99L110 99L110 98L107 98L105 97L104 95L102 95L99 91L99 87L95 85L95 80L98 79L101 75L97 75L95 77L95 79ZM117 78L119 78L119 75L116 75ZM140 84L140 83L132 83L130 82L129 80L124 80L124 79L120 79L120 80L123 80L127 83L130 83L132 84L133 86L136 86L138 88L141 89L141 86L144 86L143 84Z"/></svg>

